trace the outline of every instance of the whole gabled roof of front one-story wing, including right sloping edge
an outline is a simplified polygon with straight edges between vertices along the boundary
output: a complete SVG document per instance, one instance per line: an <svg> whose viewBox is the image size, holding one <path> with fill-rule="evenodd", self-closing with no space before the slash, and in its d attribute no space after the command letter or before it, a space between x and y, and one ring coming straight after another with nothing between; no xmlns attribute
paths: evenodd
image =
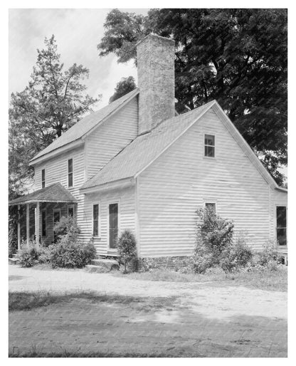
<svg viewBox="0 0 296 366"><path fill-rule="evenodd" d="M81 187L82 192L84 189L87 191L88 189L92 189L92 187L119 181L120 179L137 177L137 175L149 167L157 157L162 155L169 146L178 140L179 137L181 137L189 127L194 125L194 123L210 108L218 115L223 122L223 125L233 136L233 139L238 142L238 145L243 149L245 155L248 156L265 181L270 184L270 187L279 189L280 187L265 169L257 155L255 155L255 152L253 152L248 143L244 140L243 136L240 135L240 132L238 132L231 120L229 120L221 106L218 105L216 100L213 100L195 110L166 120L151 132L138 136L127 145L125 149L110 160L105 167L97 172L94 177L85 182L83 187Z"/></svg>

